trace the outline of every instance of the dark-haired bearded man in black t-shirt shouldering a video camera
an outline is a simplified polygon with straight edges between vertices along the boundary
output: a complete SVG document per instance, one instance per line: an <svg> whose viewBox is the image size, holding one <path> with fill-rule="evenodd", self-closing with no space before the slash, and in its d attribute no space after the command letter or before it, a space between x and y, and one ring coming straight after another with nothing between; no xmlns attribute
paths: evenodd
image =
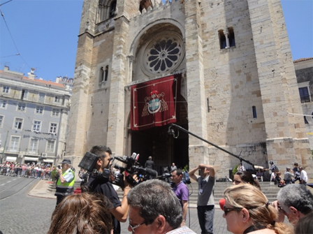
<svg viewBox="0 0 313 234"><path fill-rule="evenodd" d="M102 173L103 170L107 170L105 168L109 168L111 159L110 154L112 154L109 147L106 147L104 145L96 145L92 147L92 150L90 152L92 154L96 154L96 156L99 157L98 161L96 162L96 170ZM131 187L129 187L129 184L127 184L126 181L124 181L124 183L126 186L122 188L124 191L122 202L119 201L117 192L113 188L112 183L108 178L91 175L89 177L89 181L87 182L87 184L85 184L85 187L83 189L89 192L101 193L110 200L113 205L113 207L110 209L110 212L112 214L114 233L121 233L121 226L119 222L126 221L129 211L129 205L127 203L126 195L131 190Z"/></svg>

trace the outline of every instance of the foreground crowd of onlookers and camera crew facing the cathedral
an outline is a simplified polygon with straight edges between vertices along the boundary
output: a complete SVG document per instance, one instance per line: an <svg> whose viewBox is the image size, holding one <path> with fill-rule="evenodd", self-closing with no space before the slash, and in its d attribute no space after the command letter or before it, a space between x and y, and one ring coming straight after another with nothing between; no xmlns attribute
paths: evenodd
<svg viewBox="0 0 313 234"><path fill-rule="evenodd" d="M170 171L172 184L162 180L139 183L138 177L133 175L133 180L138 183L133 186L129 180L124 180L123 195L119 199L112 184L110 148L98 145L90 152L98 157L97 173L90 174L85 180L87 173L80 170L80 178L84 177L82 193L73 194L75 175L71 161L62 161L56 192L56 195L61 192L61 200L52 214L48 234L121 233L120 222L127 219L131 233L195 233L186 226L189 189L183 182L184 171L175 164ZM149 160L147 165L151 166L152 159ZM200 164L189 170L189 176L198 184L197 212L201 233L214 233L217 177L214 166ZM289 186L280 189L277 200L269 203L258 179L248 171L239 170L234 175L233 186L224 191L220 206L231 233L304 234L313 231L306 226L312 218L313 195L305 184L292 184L292 180ZM285 216L290 225L284 223Z"/></svg>

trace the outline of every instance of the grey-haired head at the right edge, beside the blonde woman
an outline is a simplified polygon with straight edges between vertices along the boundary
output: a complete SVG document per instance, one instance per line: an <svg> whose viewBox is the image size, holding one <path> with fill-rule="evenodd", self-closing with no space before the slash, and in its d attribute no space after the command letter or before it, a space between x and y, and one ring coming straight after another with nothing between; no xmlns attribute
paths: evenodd
<svg viewBox="0 0 313 234"><path fill-rule="evenodd" d="M313 195L304 184L289 184L283 187L277 194L277 200L293 225L313 211Z"/></svg>

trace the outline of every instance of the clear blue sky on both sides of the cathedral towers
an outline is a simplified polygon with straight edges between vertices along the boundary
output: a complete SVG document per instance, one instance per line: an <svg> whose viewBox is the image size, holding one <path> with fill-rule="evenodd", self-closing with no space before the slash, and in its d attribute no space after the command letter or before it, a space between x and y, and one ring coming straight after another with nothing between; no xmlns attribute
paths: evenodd
<svg viewBox="0 0 313 234"><path fill-rule="evenodd" d="M0 10L10 32L1 17L0 70L27 74L34 67L44 80L73 78L82 0L6 1ZM282 7L293 59L313 57L313 0L282 0Z"/></svg>

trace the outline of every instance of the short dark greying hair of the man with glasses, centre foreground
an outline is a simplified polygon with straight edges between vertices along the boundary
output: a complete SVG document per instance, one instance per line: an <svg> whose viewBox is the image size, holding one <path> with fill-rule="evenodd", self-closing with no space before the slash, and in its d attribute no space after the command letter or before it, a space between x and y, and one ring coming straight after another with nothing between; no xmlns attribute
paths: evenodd
<svg viewBox="0 0 313 234"><path fill-rule="evenodd" d="M161 180L147 180L138 184L127 194L131 207L139 210L145 224L152 224L154 219L162 215L173 228L182 223L182 207L170 184Z"/></svg>

